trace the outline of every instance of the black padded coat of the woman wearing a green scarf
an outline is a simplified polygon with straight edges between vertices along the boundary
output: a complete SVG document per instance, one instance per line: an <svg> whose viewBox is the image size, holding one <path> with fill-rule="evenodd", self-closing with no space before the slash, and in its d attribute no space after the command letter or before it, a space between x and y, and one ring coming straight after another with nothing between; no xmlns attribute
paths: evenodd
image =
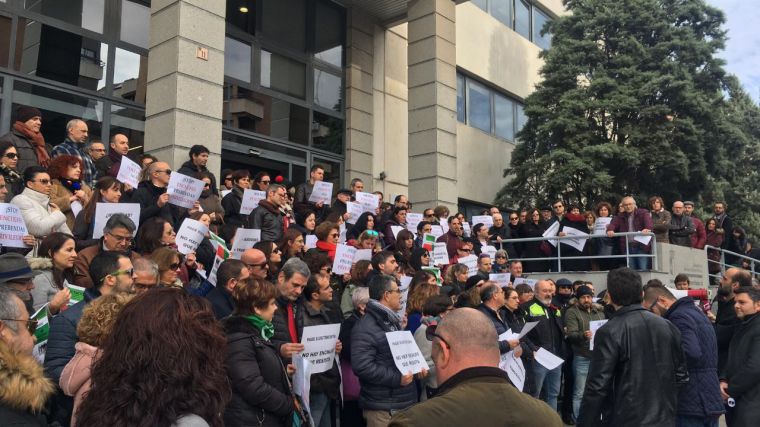
<svg viewBox="0 0 760 427"><path fill-rule="evenodd" d="M225 367L232 386L224 425L289 427L295 408L279 350L244 317L228 317L222 325L227 334Z"/></svg>

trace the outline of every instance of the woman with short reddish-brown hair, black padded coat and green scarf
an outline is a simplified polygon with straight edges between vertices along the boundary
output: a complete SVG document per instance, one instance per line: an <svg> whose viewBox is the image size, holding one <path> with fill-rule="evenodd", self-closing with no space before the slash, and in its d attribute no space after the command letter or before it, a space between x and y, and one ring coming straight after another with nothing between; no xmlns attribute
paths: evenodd
<svg viewBox="0 0 760 427"><path fill-rule="evenodd" d="M225 365L232 385L224 424L289 427L295 408L288 372L270 341L277 310L274 285L251 277L235 285L232 297L235 311L223 321L227 333Z"/></svg>

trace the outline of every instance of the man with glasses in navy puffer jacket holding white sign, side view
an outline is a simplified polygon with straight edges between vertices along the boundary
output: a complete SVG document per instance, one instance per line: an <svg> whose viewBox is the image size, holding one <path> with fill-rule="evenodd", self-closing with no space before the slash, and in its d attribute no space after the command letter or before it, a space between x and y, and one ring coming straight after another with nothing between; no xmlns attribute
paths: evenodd
<svg viewBox="0 0 760 427"><path fill-rule="evenodd" d="M396 279L376 275L369 283L370 301L351 333L351 363L359 378L359 403L368 427L385 427L391 412L417 403L417 388L411 372L401 373L386 339L386 332L401 331L401 291ZM417 374L427 376L427 370Z"/></svg>

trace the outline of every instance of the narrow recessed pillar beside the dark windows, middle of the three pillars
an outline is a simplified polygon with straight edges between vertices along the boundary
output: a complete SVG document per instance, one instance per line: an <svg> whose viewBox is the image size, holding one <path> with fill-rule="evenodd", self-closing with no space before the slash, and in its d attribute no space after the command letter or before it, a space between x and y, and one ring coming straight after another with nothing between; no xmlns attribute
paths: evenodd
<svg viewBox="0 0 760 427"><path fill-rule="evenodd" d="M346 37L346 174L345 185L361 178L372 186L372 19L357 8L348 10Z"/></svg>

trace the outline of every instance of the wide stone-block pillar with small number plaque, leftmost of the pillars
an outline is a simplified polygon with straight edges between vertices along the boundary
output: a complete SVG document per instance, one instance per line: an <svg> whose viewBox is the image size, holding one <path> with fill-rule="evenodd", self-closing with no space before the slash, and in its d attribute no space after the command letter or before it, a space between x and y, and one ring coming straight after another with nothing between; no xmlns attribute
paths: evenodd
<svg viewBox="0 0 760 427"><path fill-rule="evenodd" d="M225 2L153 0L145 107L145 152L174 169L194 144L211 151L219 178L222 153ZM203 53L207 58L199 58Z"/></svg>

